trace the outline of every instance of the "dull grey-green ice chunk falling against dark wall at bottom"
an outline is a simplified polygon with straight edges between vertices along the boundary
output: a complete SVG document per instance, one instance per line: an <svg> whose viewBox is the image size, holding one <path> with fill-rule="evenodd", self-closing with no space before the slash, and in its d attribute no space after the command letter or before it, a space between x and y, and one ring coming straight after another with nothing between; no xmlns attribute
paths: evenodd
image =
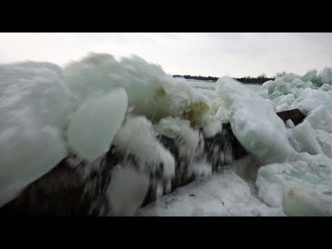
<svg viewBox="0 0 332 249"><path fill-rule="evenodd" d="M137 172L131 165L116 165L107 187L113 215L132 216L142 205L149 188L149 176Z"/></svg>

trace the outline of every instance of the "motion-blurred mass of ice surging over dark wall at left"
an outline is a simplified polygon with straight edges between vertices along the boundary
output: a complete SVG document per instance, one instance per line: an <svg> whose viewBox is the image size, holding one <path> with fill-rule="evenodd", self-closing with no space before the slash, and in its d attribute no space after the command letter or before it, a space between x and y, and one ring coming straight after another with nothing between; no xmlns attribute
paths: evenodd
<svg viewBox="0 0 332 249"><path fill-rule="evenodd" d="M0 65L0 206L66 156L75 154L74 166L80 160L98 166L112 144L139 165L162 164L163 177L172 178L174 158L156 140L152 124L174 116L199 125L209 110L204 100L184 79L136 56L118 62L91 53L64 69L37 62ZM138 167L146 175L155 170ZM87 174L84 169L82 176Z"/></svg>

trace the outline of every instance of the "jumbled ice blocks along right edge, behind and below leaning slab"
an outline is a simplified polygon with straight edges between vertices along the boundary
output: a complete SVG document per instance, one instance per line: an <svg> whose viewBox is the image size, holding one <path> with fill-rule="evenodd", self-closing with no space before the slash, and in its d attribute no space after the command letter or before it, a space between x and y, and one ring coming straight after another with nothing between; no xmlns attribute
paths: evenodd
<svg viewBox="0 0 332 249"><path fill-rule="evenodd" d="M304 122L288 120L288 139L296 153L285 163L261 167L259 197L270 206L284 207L287 215L332 215L332 68L317 75L311 69L300 77L286 74L265 82L260 95L276 111L298 108Z"/></svg>

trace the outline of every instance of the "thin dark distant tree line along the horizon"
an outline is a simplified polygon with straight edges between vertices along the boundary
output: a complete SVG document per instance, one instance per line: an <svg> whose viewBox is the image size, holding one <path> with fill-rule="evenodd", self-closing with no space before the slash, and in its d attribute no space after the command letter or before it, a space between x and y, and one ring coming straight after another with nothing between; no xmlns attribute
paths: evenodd
<svg viewBox="0 0 332 249"><path fill-rule="evenodd" d="M241 78L234 78L234 80L237 80L241 83L248 83L248 84L263 84L264 82L267 82L268 80L275 80L277 77L283 77L286 74L286 72L282 73L275 73L273 77L267 77L266 73L262 73L261 75L258 75L257 77L241 77ZM217 81L219 77L204 77L204 76L192 76L192 75L173 75L173 77L184 77L186 80L209 80L209 81Z"/></svg>

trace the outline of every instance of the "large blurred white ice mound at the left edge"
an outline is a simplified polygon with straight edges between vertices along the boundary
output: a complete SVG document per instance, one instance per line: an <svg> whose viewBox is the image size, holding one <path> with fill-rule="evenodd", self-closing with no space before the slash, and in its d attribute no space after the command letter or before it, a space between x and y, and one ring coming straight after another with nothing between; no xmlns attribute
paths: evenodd
<svg viewBox="0 0 332 249"><path fill-rule="evenodd" d="M0 206L66 156L59 127L68 95L54 64L0 65Z"/></svg>

